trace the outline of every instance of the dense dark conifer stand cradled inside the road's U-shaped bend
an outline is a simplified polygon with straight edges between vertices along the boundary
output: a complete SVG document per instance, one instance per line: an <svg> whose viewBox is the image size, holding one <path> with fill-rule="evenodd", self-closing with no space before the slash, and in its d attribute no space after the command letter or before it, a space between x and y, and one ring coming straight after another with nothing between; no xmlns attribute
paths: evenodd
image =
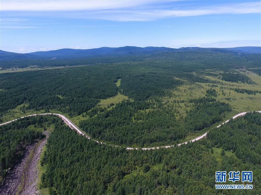
<svg viewBox="0 0 261 195"><path fill-rule="evenodd" d="M127 146L158 146L178 143L189 131L201 130L222 120L222 113L231 111L223 102L197 104L188 112L184 126L164 107L148 109L146 102L123 101L97 117L80 122L80 127L92 137Z"/></svg>

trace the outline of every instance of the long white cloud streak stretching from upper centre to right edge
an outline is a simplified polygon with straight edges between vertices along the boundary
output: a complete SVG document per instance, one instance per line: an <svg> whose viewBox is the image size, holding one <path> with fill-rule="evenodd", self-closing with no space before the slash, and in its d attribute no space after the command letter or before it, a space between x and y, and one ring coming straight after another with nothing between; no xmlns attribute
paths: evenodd
<svg viewBox="0 0 261 195"><path fill-rule="evenodd" d="M186 16L202 16L212 14L247 14L260 13L260 1L240 3L233 5L219 5L205 8L194 9L175 9L175 10L101 10L96 16L90 13L86 14L86 18L96 18L113 21L150 21L167 17L186 17ZM82 15L84 16L84 14Z"/></svg>

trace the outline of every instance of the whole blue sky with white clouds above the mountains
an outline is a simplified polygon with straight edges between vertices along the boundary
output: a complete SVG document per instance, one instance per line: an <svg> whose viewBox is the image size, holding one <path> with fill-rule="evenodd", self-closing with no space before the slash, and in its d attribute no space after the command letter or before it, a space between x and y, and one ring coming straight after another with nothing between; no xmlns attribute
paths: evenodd
<svg viewBox="0 0 261 195"><path fill-rule="evenodd" d="M0 49L261 46L260 1L5 1Z"/></svg>

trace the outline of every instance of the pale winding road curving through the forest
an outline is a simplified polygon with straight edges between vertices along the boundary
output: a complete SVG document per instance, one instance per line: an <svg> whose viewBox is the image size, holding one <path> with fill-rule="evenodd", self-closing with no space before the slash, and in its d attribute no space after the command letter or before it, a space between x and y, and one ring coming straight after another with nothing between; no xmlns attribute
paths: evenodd
<svg viewBox="0 0 261 195"><path fill-rule="evenodd" d="M261 111L257 111L257 112L261 113ZM239 114L233 116L232 118L234 119L234 118L236 118L236 117L243 116L243 115L245 115L246 113L248 113L248 112L239 113ZM77 133L79 133L80 135L85 136L85 137L88 138L88 139L91 139L88 135L86 135L86 133L82 132L73 122L71 122L68 118L66 118L64 115L61 115L61 114L56 114L56 113L43 113L43 114L28 115L28 116L24 116L24 117L30 117L30 116L36 116L36 115L57 115L57 116L59 116L59 117L64 121L64 123L65 123L66 125L68 125L71 129L75 129L75 130L77 131ZM24 118L24 117L21 117L21 118ZM19 119L21 119L21 118L19 118ZM14 120L12 120L12 121L8 121L8 122L5 122L5 123L2 123L2 124L0 124L0 126L1 126L1 125L5 125L5 124L8 124L8 123L13 122L13 121L16 121L16 120L17 120L17 119L14 119ZM230 119L229 119L229 120L230 120ZM226 122L224 122L224 123L222 123L222 124L225 124L225 123L229 122L229 120L227 120ZM218 125L217 128L219 128L222 124ZM206 135L207 135L207 132L204 133L203 135L200 135L199 137L196 137L196 138L191 139L191 140L189 140L189 141L186 141L186 142L177 144L177 146L180 146L181 144L187 144L188 142L197 141L197 140L199 140L199 139L202 139L203 137L206 137ZM105 143L102 143L102 142L97 141L97 140L95 140L95 139L93 139L93 141L96 141L97 143L100 143L100 144L105 144ZM175 145L170 145L170 146L158 146L158 147L151 147L151 148L142 148L142 150L155 150L155 149L159 149L159 148L171 148L171 147L173 147L173 146L175 146ZM117 147L117 146L116 146L116 147ZM126 148L126 150L133 150L133 149L138 150L139 148Z"/></svg>

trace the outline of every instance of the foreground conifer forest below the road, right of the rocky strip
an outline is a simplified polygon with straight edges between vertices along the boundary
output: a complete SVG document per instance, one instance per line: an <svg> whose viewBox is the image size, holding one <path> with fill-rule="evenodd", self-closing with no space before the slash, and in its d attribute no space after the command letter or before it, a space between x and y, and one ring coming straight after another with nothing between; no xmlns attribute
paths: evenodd
<svg viewBox="0 0 261 195"><path fill-rule="evenodd" d="M215 171L252 170L254 188L241 192L260 194L260 132L261 115L249 113L213 128L201 141L128 151L56 126L48 139L41 187L52 194L230 194L214 189ZM220 147L224 156L211 154Z"/></svg>

